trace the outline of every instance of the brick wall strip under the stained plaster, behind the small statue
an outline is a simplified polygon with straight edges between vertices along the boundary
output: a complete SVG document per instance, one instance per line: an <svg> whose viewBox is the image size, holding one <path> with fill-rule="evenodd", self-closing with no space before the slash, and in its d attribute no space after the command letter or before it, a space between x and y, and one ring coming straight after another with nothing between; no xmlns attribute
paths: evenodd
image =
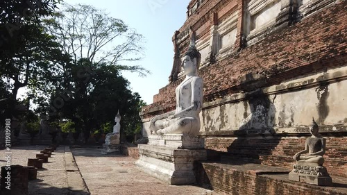
<svg viewBox="0 0 347 195"><path fill-rule="evenodd" d="M324 136L324 135L323 135ZM347 177L347 137L325 137L323 166L332 176ZM222 160L242 158L250 162L292 169L293 155L305 149L305 137L205 137L205 148L217 151ZM214 153L214 155L216 155Z"/></svg>

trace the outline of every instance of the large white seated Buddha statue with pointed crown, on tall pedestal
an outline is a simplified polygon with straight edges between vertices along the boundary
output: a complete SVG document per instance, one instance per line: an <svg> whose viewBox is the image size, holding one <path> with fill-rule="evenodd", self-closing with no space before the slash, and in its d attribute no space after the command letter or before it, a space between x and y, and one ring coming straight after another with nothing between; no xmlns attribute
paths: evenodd
<svg viewBox="0 0 347 195"><path fill-rule="evenodd" d="M152 133L198 135L199 113L203 106L203 79L197 74L200 60L201 54L196 49L192 33L181 65L185 79L176 87L176 110L153 117L149 126Z"/></svg>

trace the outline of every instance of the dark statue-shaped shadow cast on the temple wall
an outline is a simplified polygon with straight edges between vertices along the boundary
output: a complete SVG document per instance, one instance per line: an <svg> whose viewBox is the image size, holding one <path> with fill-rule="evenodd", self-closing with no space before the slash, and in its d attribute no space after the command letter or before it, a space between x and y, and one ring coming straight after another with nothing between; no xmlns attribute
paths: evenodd
<svg viewBox="0 0 347 195"><path fill-rule="evenodd" d="M246 74L244 76L241 84L246 97L244 119L239 126L237 137L227 148L228 152L221 155L222 162L260 164L262 158L271 155L278 146L280 137L275 135L273 129L276 114L273 101L275 101L276 96L270 99L260 90L266 85L267 80L262 75Z"/></svg>

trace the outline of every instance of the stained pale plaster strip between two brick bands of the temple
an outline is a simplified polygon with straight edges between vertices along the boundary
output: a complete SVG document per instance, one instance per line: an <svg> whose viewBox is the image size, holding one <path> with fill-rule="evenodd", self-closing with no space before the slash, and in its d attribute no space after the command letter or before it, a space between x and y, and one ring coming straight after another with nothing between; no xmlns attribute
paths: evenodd
<svg viewBox="0 0 347 195"><path fill-rule="evenodd" d="M320 125L346 124L347 80L335 82L339 72L347 76L347 67L205 103L201 132L307 126L312 117Z"/></svg>

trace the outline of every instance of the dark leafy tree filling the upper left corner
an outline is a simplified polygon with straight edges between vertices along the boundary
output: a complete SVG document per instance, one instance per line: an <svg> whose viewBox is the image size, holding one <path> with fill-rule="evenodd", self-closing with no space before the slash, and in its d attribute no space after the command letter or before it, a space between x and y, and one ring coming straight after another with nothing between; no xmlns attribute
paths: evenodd
<svg viewBox="0 0 347 195"><path fill-rule="evenodd" d="M6 110L15 115L19 88L33 85L51 64L57 44L44 33L42 17L51 15L59 0L3 0L0 2L0 80L10 80ZM1 122L4 121L1 119Z"/></svg>

